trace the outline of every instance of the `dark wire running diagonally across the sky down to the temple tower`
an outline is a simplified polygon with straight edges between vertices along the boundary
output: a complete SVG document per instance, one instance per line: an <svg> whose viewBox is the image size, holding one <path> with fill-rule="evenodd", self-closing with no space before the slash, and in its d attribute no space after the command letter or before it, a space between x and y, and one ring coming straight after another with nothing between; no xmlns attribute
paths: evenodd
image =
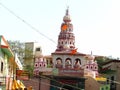
<svg viewBox="0 0 120 90"><path fill-rule="evenodd" d="M12 15L14 15L15 17L17 17L19 20L21 20L23 23L25 23L27 26L29 26L32 30L36 31L37 33L39 33L40 35L42 35L43 37L47 38L48 40L50 40L51 42L53 42L54 44L56 44L56 42L49 38L48 36L46 36L45 34L41 33L37 28L35 28L34 26L32 26L30 23L28 23L27 21L25 21L24 19L22 19L20 16L18 16L16 13L14 13L12 10L10 10L9 8L7 8L5 5L3 5L2 3L0 3L0 5L5 8L7 11L9 11Z"/></svg>

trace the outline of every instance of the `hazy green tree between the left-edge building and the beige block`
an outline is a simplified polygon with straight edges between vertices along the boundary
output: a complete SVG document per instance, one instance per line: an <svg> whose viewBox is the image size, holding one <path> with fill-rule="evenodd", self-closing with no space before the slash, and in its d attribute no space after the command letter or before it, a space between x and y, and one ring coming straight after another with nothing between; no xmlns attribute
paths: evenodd
<svg viewBox="0 0 120 90"><path fill-rule="evenodd" d="M30 49L25 49L25 43L24 42L20 42L20 41L17 41L17 40L16 41L8 40L8 43L9 43L9 46L10 46L11 50L14 53L18 54L18 58L23 65L23 69L25 71L29 72L29 76L32 76L33 75L33 67L31 67L31 65L25 65L24 64L25 59L33 58L32 51ZM25 56L25 53L27 53L27 56Z"/></svg>

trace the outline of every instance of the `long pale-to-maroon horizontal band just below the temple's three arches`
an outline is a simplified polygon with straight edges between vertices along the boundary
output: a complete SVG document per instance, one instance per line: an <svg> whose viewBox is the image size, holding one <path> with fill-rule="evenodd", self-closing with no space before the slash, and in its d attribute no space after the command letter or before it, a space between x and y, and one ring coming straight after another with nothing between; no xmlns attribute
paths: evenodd
<svg viewBox="0 0 120 90"><path fill-rule="evenodd" d="M34 70L34 74L42 72L43 75L58 75L58 76L84 76L83 69L68 69L68 68L38 68Z"/></svg>

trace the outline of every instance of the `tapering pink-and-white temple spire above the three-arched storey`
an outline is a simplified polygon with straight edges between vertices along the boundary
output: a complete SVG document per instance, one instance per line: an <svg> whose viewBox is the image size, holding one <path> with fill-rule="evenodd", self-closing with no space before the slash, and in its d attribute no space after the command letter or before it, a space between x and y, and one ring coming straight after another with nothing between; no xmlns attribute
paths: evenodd
<svg viewBox="0 0 120 90"><path fill-rule="evenodd" d="M56 51L71 51L75 49L75 36L73 34L73 25L71 23L69 8L63 17L61 31L58 36L58 45Z"/></svg>

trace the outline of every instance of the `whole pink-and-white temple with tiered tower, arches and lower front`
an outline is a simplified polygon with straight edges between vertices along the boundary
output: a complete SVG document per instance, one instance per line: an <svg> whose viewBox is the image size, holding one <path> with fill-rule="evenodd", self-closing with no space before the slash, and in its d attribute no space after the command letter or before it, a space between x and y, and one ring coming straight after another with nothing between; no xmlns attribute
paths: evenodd
<svg viewBox="0 0 120 90"><path fill-rule="evenodd" d="M39 78L39 89L103 90L108 87L105 80L104 84L100 82L95 57L92 54L80 53L75 47L69 8L60 29L55 52L51 53L51 56L43 56L41 53L35 56L34 75Z"/></svg>

